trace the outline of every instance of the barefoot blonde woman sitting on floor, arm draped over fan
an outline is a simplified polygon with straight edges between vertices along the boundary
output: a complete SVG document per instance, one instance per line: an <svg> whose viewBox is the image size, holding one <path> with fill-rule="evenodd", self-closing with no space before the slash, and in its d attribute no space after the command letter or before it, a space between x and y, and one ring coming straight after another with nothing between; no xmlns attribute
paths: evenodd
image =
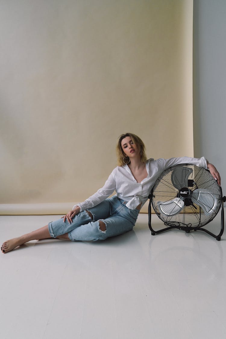
<svg viewBox="0 0 226 339"><path fill-rule="evenodd" d="M2 253L30 240L58 238L64 240L104 240L132 230L140 208L159 175L168 167L190 163L208 168L221 184L217 169L202 157L148 159L143 141L132 133L122 134L117 143L119 166L94 195L73 207L64 217L36 231L5 241ZM116 195L108 198L114 191Z"/></svg>

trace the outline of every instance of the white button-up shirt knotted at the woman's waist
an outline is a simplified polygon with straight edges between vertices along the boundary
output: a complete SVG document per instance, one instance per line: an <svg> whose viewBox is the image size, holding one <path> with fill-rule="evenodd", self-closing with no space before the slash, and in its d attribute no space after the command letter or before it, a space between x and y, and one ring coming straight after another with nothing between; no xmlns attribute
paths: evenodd
<svg viewBox="0 0 226 339"><path fill-rule="evenodd" d="M148 195L160 174L166 168L183 163L207 168L207 162L204 157L200 159L182 157L170 159L161 158L157 160L150 158L146 161L147 177L141 182L137 182L128 165L117 166L113 169L102 188L84 202L75 205L73 208L79 206L80 211L87 210L98 205L114 191L116 191L118 198L127 201L126 206L128 208L134 210L140 203L142 203L142 207L147 201Z"/></svg>

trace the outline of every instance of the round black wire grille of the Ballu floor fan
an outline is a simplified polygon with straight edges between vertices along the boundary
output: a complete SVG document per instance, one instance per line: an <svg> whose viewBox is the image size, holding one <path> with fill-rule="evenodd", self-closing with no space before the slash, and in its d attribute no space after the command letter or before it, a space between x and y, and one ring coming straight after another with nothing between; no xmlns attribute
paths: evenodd
<svg viewBox="0 0 226 339"><path fill-rule="evenodd" d="M174 182L172 182L172 177ZM180 196L180 188L184 188L185 185L190 190L188 198ZM197 192L201 192L201 202ZM178 209L178 201L183 205L181 210L180 206ZM207 169L196 165L181 164L167 168L156 180L152 188L151 202L156 214L166 225L202 227L219 212L222 192L217 181ZM169 205L165 207L167 202ZM163 213L161 206L167 212Z"/></svg>

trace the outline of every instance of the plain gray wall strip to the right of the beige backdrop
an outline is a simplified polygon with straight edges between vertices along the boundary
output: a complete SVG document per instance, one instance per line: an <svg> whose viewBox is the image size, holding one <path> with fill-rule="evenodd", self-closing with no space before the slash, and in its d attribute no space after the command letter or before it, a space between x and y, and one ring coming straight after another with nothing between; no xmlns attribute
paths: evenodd
<svg viewBox="0 0 226 339"><path fill-rule="evenodd" d="M226 194L226 1L194 0L194 156L205 156L220 172Z"/></svg>

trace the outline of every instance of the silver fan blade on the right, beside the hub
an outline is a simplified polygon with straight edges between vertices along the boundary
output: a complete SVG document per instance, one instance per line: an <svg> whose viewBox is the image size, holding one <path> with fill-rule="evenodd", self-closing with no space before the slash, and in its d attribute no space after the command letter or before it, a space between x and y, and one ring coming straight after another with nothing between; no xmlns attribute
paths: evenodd
<svg viewBox="0 0 226 339"><path fill-rule="evenodd" d="M211 214L218 203L218 199L215 198L210 191L205 188L197 188L192 192L191 201L193 204L202 207L204 214L207 216Z"/></svg>

